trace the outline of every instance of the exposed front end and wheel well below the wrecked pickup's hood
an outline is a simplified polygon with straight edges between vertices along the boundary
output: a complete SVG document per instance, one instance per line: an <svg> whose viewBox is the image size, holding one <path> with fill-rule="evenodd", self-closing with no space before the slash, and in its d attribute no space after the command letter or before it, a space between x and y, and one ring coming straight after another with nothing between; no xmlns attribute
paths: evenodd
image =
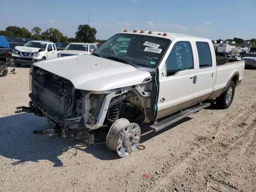
<svg viewBox="0 0 256 192"><path fill-rule="evenodd" d="M78 90L70 80L34 66L30 82L33 112L66 130L108 128L119 118L150 122L156 116L152 77L141 85L96 92Z"/></svg>

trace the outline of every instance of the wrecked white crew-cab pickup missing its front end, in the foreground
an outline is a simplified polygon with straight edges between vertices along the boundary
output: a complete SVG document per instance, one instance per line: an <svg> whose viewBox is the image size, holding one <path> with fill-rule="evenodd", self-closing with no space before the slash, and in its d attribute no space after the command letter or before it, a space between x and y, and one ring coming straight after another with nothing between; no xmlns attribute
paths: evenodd
<svg viewBox="0 0 256 192"><path fill-rule="evenodd" d="M122 42L126 54L113 49ZM136 149L140 122L159 131L210 106L210 98L228 108L244 72L244 61L216 64L209 39L136 30L112 36L91 55L34 65L29 107L16 113L44 116L53 131L87 144L106 132L107 147L120 157Z"/></svg>

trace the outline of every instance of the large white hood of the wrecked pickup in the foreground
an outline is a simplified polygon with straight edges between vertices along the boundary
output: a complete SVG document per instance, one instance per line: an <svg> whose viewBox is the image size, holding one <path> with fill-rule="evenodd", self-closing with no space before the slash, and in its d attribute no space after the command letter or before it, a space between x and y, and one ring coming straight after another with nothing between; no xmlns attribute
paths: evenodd
<svg viewBox="0 0 256 192"><path fill-rule="evenodd" d="M76 89L104 91L141 84L150 73L92 55L60 57L34 63L44 70L66 78Z"/></svg>

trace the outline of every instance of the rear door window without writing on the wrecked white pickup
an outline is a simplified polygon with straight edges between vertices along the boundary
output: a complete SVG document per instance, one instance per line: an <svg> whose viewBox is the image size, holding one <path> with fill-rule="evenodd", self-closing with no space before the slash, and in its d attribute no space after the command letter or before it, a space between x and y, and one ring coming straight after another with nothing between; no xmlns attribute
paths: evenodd
<svg viewBox="0 0 256 192"><path fill-rule="evenodd" d="M196 42L196 48L199 58L199 68L212 66L212 55L210 46L207 42Z"/></svg>

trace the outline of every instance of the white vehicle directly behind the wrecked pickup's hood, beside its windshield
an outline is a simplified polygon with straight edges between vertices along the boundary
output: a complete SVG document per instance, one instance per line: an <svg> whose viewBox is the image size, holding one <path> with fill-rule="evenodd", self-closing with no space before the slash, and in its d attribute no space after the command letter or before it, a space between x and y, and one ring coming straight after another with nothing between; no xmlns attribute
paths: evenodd
<svg viewBox="0 0 256 192"><path fill-rule="evenodd" d="M70 43L63 51L58 53L58 57L81 54L89 55L97 48L98 46L92 43Z"/></svg>

